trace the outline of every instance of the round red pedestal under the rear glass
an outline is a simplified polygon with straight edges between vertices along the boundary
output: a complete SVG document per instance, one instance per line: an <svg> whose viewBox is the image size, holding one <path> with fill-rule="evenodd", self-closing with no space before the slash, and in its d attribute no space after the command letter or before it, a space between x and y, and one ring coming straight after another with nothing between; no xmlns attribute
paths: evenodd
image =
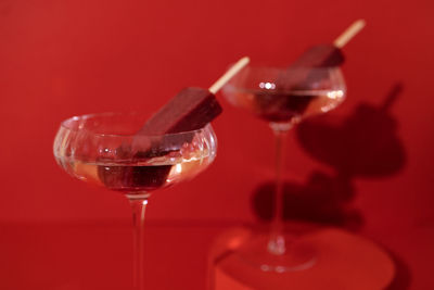
<svg viewBox="0 0 434 290"><path fill-rule="evenodd" d="M388 289L396 277L396 266L388 252L363 237L339 228L311 228L304 232L295 230L285 232L296 232L295 237L299 237L294 242L294 248L295 244L310 244L314 248L310 265L303 263L303 254L297 254L296 256L301 256L302 260L282 259L283 263L278 261L279 266L288 261L296 261L292 265L286 264L286 272L279 273L282 268L277 268L276 260L266 261L269 254L260 256L257 252L255 255L245 252L246 247L252 247L254 244L252 241L257 239L254 231L250 228L233 228L219 236L217 243L212 248L214 259L210 266L209 289L372 290ZM268 241L266 241L263 242L264 247L267 247ZM275 265L275 267L261 269L261 265ZM299 267L301 265L304 267Z"/></svg>

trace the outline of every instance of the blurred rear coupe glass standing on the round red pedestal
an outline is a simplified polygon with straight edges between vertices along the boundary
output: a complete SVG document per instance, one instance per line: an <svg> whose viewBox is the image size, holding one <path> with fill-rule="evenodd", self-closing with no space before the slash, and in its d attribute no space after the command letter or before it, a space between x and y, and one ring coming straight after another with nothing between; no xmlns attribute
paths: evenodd
<svg viewBox="0 0 434 290"><path fill-rule="evenodd" d="M345 98L345 83L337 67L259 67L248 66L224 87L234 106L247 110L269 123L276 139L276 202L269 234L243 244L244 260L264 270L288 272L308 268L316 260L315 249L303 237L283 228L284 142L292 126L303 118L326 113Z"/></svg>

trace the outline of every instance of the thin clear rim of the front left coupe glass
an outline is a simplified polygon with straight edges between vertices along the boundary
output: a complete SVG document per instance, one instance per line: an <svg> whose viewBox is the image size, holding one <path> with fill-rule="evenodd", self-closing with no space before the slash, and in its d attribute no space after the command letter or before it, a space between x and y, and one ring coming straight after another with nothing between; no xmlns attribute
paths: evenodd
<svg viewBox="0 0 434 290"><path fill-rule="evenodd" d="M116 115L125 115L125 116L140 116L138 112L103 112L103 113L89 113L89 114L82 114L82 115L74 115L72 117L68 117L64 121L61 122L61 128L66 129L68 131L87 131L90 135L93 135L95 137L118 137L118 138L128 138L128 137L135 137L135 138L158 138L158 137L170 137L170 136L183 136L183 135L192 135L192 134L199 134L207 129L207 127L210 126L210 123L206 124L200 129L194 129L194 130L186 130L186 131L180 131L180 133L168 133L168 134L105 134L105 133L94 133L92 130L86 129L86 128L72 128L72 126L68 125L68 122L77 122L77 121L82 121L82 119L91 119L92 117L103 117L103 116L116 116Z"/></svg>

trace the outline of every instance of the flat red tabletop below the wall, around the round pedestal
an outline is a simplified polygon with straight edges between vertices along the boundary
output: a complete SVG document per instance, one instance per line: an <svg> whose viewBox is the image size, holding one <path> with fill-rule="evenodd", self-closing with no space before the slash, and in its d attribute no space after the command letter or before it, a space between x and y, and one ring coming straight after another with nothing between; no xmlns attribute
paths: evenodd
<svg viewBox="0 0 434 290"><path fill-rule="evenodd" d="M208 289L208 275L216 269L208 264L214 257L216 239L240 225L149 222L145 226L145 289L200 290ZM10 224L1 225L1 289L132 287L132 229L127 224ZM427 263L434 259L433 227L359 235L375 242L395 263L395 276L386 290L434 287L432 266ZM237 274L232 275L237 278Z"/></svg>

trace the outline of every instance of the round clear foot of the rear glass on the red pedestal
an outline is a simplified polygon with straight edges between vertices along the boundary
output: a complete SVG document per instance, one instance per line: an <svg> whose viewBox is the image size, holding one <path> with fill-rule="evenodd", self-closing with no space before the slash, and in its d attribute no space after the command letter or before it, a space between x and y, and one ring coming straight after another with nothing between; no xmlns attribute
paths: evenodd
<svg viewBox="0 0 434 290"><path fill-rule="evenodd" d="M269 234L254 234L237 250L237 254L245 263L264 272L296 272L315 265L317 253L312 244L302 238L294 239L289 234L283 234L279 239L284 241L283 250L276 251Z"/></svg>

